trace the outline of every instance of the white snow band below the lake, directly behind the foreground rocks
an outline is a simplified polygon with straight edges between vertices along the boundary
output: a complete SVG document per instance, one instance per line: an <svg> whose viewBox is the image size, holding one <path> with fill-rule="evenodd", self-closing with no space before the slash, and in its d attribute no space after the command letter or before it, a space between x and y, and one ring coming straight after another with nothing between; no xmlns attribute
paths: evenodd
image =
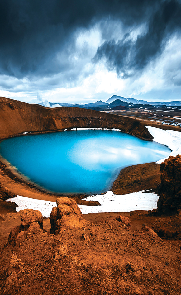
<svg viewBox="0 0 181 295"><path fill-rule="evenodd" d="M130 193L126 195L114 195L108 191L104 195L93 195L85 198L86 201L98 201L101 206L78 205L83 214L101 213L101 212L130 212L133 210L152 210L157 208L158 196L154 193L142 193L144 191ZM18 207L16 211L27 208L39 210L43 217L50 217L53 207L57 206L56 202L43 201L28 197L17 196L8 199L7 202L15 202Z"/></svg>

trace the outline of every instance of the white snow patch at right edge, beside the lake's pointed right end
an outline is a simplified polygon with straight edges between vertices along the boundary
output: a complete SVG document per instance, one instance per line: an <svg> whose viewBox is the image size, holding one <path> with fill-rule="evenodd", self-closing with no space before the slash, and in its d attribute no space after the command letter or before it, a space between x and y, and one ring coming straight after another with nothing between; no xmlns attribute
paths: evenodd
<svg viewBox="0 0 181 295"><path fill-rule="evenodd" d="M180 132L174 131L174 130L163 130L160 128L152 127L152 126L146 126L150 134L153 136L153 141L156 141L158 143L161 143L162 145L167 145L172 152L169 156L176 156L180 154L181 148L180 148ZM168 157L169 157L168 156ZM160 164L164 162L165 159L168 159L168 157L164 159L160 159L156 162L156 164Z"/></svg>

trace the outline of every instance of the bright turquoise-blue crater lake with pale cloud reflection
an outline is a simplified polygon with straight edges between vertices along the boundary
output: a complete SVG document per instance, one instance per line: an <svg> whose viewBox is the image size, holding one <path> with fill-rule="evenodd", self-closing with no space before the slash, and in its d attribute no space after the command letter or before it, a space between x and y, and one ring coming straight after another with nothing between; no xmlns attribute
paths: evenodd
<svg viewBox="0 0 181 295"><path fill-rule="evenodd" d="M0 153L47 190L91 194L109 190L121 168L156 162L170 150L118 131L79 130L6 139Z"/></svg>

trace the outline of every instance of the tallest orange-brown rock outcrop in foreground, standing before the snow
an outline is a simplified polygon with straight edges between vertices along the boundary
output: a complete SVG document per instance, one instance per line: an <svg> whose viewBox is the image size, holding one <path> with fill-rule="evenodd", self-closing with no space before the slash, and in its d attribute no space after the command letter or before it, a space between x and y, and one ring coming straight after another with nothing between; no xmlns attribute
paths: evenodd
<svg viewBox="0 0 181 295"><path fill-rule="evenodd" d="M50 233L58 234L67 227L82 228L89 224L84 220L80 208L73 199L61 197L57 199L57 207L52 208L50 214Z"/></svg>

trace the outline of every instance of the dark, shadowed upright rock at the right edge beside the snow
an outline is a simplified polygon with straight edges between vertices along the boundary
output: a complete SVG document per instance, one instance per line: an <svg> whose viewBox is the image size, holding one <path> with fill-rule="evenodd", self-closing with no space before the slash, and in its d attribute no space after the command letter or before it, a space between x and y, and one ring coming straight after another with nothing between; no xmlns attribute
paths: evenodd
<svg viewBox="0 0 181 295"><path fill-rule="evenodd" d="M164 160L160 164L160 172L157 211L159 214L175 214L180 210L180 155Z"/></svg>

